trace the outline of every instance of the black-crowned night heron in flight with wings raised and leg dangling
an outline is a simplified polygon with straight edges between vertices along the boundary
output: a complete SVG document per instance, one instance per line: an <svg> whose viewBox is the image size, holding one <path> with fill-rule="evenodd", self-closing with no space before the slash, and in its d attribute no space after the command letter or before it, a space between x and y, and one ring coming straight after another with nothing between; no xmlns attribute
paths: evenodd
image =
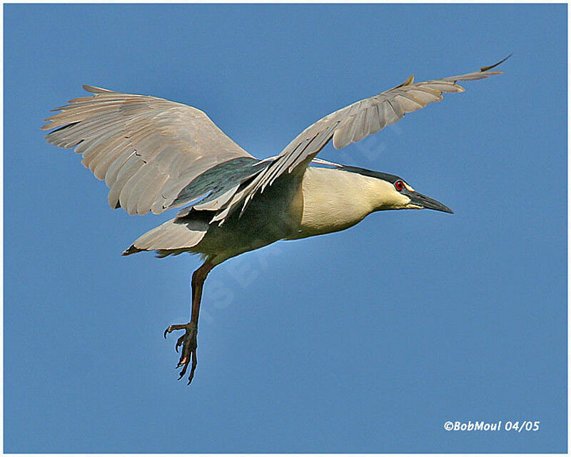
<svg viewBox="0 0 571 457"><path fill-rule="evenodd" d="M507 59L507 58L506 58ZM505 60L505 59L504 59ZM504 61L502 60L502 61ZM435 209L452 213L392 174L315 159L333 139L335 149L375 134L412 111L440 101L445 92L463 92L457 81L500 74L480 71L403 84L357 101L309 126L277 156L258 160L226 136L196 108L153 96L121 94L84 86L94 96L69 101L42 129L55 129L49 143L75 148L81 161L111 189L111 208L128 214L162 213L184 206L174 219L144 233L128 256L201 254L192 275L191 321L184 330L180 378L192 361L203 283L228 258L278 240L293 240L348 229L374 211Z"/></svg>

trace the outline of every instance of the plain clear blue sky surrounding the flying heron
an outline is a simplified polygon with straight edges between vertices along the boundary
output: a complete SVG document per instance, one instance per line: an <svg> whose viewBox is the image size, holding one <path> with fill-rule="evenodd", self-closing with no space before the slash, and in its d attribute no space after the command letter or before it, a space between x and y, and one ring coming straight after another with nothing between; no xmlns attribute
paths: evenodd
<svg viewBox="0 0 571 457"><path fill-rule="evenodd" d="M566 24L566 5L5 5L4 451L565 452ZM188 318L198 258L121 257L172 214L112 211L39 130L94 84L197 106L271 156L410 74L511 52L321 154L455 214L373 214L218 266L190 387L162 331Z"/></svg>

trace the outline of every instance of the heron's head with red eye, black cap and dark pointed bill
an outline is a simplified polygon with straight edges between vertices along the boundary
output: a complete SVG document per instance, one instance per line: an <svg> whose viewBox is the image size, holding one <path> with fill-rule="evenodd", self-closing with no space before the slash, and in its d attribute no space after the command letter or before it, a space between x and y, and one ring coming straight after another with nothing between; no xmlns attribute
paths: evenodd
<svg viewBox="0 0 571 457"><path fill-rule="evenodd" d="M445 206L430 197L415 191L404 179L393 174L370 171L357 167L344 167L345 171L369 176L376 179L374 190L374 211L388 209L434 209L444 213L453 213Z"/></svg>

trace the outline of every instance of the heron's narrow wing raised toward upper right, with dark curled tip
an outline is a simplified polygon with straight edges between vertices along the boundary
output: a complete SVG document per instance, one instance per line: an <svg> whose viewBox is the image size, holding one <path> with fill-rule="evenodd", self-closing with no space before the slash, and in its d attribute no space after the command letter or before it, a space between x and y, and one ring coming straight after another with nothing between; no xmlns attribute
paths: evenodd
<svg viewBox="0 0 571 457"><path fill-rule="evenodd" d="M272 159L269 166L263 169L248 186L233 196L226 208L220 211L213 220L222 223L223 219L240 204L243 211L256 191L263 191L266 186L271 186L286 171L291 173L294 169L305 169L330 139L333 139L335 149L360 141L365 136L383 130L385 126L395 124L403 119L405 114L424 108L434 101L442 100L445 92L463 92L463 87L456 84L458 81L473 81L501 74L502 71L488 70L503 61L505 59L495 65L482 67L480 71L474 73L432 81L415 83L414 76L410 76L403 84L393 89L369 99L357 101L325 116L296 136L281 151L281 154Z"/></svg>

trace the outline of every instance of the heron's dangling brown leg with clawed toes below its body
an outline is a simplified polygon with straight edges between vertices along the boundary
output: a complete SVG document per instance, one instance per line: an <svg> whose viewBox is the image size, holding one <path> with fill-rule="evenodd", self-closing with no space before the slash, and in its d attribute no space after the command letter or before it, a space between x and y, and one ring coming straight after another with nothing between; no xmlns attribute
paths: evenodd
<svg viewBox="0 0 571 457"><path fill-rule="evenodd" d="M168 326L165 330L164 336L171 333L173 330L186 330L183 336L178 338L176 341L176 352L180 346L183 347L181 358L178 361L176 368L183 367L178 379L181 379L186 373L188 364L191 363L191 374L188 375L188 383L190 384L194 376L194 370L196 369L196 335L198 333L198 313L201 309L201 298L202 298L202 287L206 276L210 273L211 269L214 268L212 263L205 262L200 266L194 273L192 273L192 311L191 311L191 321L188 323L175 324Z"/></svg>

